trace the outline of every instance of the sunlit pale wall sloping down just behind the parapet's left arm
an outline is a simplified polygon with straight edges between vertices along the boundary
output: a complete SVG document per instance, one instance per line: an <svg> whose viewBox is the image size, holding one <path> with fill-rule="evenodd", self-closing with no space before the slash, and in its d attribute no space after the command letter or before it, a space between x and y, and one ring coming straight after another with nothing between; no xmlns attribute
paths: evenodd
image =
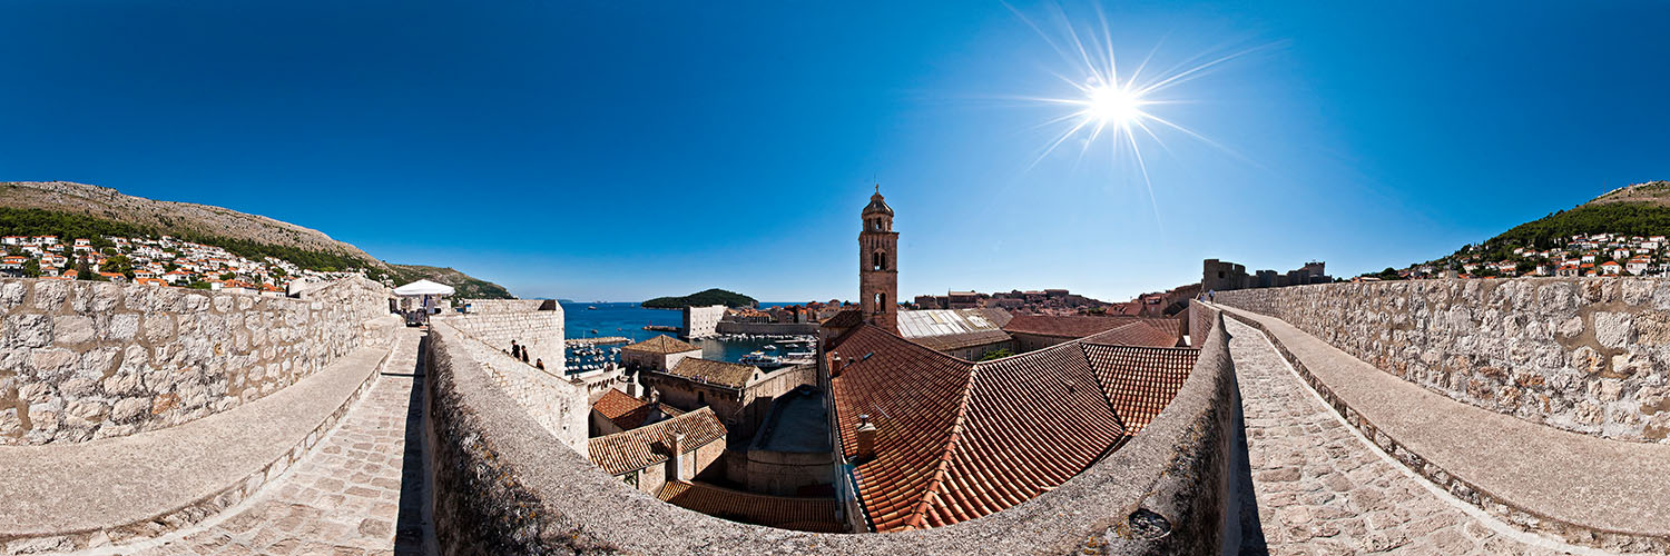
<svg viewBox="0 0 1670 556"><path fill-rule="evenodd" d="M569 381L554 371L511 359L493 346L459 334L451 324L453 319L434 322L438 331L458 337L456 346L464 351L493 384L523 411L528 412L546 432L554 436L569 449L586 452L590 432L591 401L584 382Z"/></svg>

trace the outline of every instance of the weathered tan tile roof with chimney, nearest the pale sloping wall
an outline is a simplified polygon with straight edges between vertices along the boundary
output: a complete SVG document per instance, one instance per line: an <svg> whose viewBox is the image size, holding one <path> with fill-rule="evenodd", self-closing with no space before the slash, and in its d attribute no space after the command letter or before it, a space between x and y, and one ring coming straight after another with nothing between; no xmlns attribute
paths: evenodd
<svg viewBox="0 0 1670 556"><path fill-rule="evenodd" d="M646 427L590 439L586 451L591 454L591 462L608 474L620 476L665 462L671 451L673 432L685 434L681 449L688 454L725 439L725 424L711 407L701 407Z"/></svg>

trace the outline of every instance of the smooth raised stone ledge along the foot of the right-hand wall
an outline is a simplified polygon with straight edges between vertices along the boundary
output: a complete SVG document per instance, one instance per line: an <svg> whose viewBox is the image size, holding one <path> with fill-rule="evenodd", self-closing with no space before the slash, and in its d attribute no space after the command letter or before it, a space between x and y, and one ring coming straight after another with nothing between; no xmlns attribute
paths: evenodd
<svg viewBox="0 0 1670 556"><path fill-rule="evenodd" d="M1558 431L1458 402L1281 319L1219 309L1263 332L1346 422L1450 494L1571 544L1670 551L1670 486L1657 479L1670 474L1670 447Z"/></svg>

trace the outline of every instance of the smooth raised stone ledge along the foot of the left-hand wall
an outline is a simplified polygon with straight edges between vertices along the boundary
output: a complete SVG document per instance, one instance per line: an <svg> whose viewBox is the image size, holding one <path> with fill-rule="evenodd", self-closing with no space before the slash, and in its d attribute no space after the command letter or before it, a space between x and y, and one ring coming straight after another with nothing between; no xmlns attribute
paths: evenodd
<svg viewBox="0 0 1670 556"><path fill-rule="evenodd" d="M272 396L182 426L82 444L0 447L0 549L122 544L240 503L336 426L392 346L361 347Z"/></svg>

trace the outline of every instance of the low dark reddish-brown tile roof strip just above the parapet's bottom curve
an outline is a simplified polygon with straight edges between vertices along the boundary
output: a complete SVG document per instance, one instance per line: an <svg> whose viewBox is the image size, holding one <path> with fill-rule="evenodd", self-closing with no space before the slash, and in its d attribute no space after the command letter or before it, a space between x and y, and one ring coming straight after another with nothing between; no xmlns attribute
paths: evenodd
<svg viewBox="0 0 1670 556"><path fill-rule="evenodd" d="M705 483L671 481L655 494L661 501L708 516L778 529L843 533L833 498L787 498L731 491Z"/></svg>

